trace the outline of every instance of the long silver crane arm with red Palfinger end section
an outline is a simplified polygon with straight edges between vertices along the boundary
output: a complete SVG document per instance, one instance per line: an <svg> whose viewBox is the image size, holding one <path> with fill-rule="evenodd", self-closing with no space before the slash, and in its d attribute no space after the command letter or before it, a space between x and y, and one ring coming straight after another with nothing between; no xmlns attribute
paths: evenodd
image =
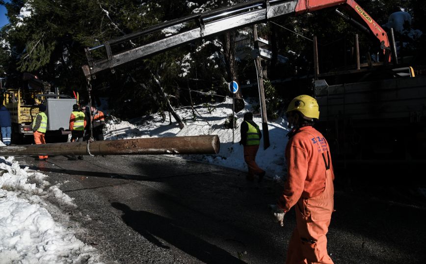
<svg viewBox="0 0 426 264"><path fill-rule="evenodd" d="M114 73L113 68L118 65L164 52L168 49L182 46L198 39L212 37L225 31L263 23L288 14L299 14L343 4L346 4L346 6L357 12L373 34L379 39L381 49L390 50L386 32L353 0L251 0L210 12L194 14L181 19L165 22L157 26L149 27L144 31L108 41L103 45L86 48L85 52L88 65L82 66L83 73L86 79L95 79L95 74L100 71L109 68L111 72ZM111 52L110 46L113 44L123 43L136 37L188 22L196 22L198 26L125 52L117 54ZM106 58L94 60L91 52L103 47L106 49Z"/></svg>

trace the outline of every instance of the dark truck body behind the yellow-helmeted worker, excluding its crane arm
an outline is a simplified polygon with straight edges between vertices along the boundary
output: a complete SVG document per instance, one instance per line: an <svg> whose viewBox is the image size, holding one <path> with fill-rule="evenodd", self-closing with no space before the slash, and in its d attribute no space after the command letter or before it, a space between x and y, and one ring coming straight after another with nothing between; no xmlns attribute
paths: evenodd
<svg viewBox="0 0 426 264"><path fill-rule="evenodd" d="M316 81L319 125L346 164L425 164L426 76L415 76L412 67L389 72L386 79Z"/></svg>

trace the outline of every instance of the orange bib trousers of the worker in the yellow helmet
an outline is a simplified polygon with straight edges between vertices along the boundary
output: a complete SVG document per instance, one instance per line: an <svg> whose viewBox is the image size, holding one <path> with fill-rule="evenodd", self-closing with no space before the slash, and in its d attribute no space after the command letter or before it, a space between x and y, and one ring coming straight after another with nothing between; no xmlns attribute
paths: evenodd
<svg viewBox="0 0 426 264"><path fill-rule="evenodd" d="M286 264L333 264L325 237L334 208L334 186L329 169L325 177L325 189L319 196L297 201L296 228L290 238Z"/></svg>

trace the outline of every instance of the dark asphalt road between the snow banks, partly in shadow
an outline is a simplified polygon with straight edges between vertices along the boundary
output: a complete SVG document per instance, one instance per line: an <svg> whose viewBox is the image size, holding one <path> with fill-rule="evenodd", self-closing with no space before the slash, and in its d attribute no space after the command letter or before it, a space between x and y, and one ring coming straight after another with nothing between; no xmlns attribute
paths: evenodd
<svg viewBox="0 0 426 264"><path fill-rule="evenodd" d="M284 263L294 210L284 227L271 222L267 205L281 191L275 182L165 156L16 159L63 183L78 206L64 210L84 228L77 236L106 263ZM426 262L426 206L392 190L336 186L327 235L336 264Z"/></svg>

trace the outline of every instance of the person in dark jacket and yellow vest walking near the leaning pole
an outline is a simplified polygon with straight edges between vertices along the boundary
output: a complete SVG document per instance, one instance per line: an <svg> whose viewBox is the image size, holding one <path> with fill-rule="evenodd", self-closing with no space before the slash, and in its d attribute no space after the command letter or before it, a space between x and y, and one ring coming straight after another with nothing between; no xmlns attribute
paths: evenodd
<svg viewBox="0 0 426 264"><path fill-rule="evenodd" d="M240 126L241 140L240 145L244 148L244 161L248 166L247 180L253 181L255 175L259 176L259 182L262 181L265 176L265 171L256 164L256 154L259 150L260 139L262 133L259 130L259 126L253 122L253 114L247 112L244 114L244 121Z"/></svg>

